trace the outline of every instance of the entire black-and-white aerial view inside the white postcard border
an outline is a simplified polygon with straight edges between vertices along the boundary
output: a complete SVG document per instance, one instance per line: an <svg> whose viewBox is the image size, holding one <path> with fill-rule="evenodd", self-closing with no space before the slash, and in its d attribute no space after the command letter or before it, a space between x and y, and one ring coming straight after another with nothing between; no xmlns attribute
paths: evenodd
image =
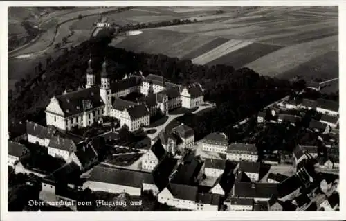
<svg viewBox="0 0 346 221"><path fill-rule="evenodd" d="M8 211L339 211L338 15L8 7Z"/></svg>

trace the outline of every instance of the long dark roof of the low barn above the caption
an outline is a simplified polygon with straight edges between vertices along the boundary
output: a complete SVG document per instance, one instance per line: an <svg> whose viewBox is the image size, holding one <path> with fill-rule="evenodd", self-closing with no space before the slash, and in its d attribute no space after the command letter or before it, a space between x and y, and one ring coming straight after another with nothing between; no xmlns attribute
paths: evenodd
<svg viewBox="0 0 346 221"><path fill-rule="evenodd" d="M98 165L93 168L89 181L104 182L107 184L118 184L122 186L131 186L142 188L143 182L153 182L150 173L135 170L126 170L123 168L112 168L104 165Z"/></svg>

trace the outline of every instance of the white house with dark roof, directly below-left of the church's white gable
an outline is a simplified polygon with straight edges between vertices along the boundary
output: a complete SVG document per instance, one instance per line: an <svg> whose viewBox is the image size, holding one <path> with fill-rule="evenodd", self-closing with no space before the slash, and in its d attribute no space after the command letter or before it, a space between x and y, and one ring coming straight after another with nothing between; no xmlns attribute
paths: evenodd
<svg viewBox="0 0 346 221"><path fill-rule="evenodd" d="M54 134L54 129L26 121L26 133L28 134L28 142L39 143L39 145L47 147L51 136Z"/></svg>

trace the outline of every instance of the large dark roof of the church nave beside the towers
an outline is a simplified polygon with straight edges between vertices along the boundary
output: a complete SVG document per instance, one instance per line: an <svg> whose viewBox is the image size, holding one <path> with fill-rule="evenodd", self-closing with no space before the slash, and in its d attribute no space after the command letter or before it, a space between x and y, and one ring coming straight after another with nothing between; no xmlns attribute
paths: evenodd
<svg viewBox="0 0 346 221"><path fill-rule="evenodd" d="M55 96L55 98L57 98L65 117L104 105L99 87L78 89L77 91Z"/></svg>

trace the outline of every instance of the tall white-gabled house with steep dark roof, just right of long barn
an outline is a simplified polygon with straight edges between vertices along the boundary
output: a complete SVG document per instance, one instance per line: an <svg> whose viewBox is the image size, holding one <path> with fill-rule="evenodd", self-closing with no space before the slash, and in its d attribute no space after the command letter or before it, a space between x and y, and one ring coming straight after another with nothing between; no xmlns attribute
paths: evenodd
<svg viewBox="0 0 346 221"><path fill-rule="evenodd" d="M161 140L158 139L142 157L142 169L152 171L158 163L165 157L166 151Z"/></svg>

